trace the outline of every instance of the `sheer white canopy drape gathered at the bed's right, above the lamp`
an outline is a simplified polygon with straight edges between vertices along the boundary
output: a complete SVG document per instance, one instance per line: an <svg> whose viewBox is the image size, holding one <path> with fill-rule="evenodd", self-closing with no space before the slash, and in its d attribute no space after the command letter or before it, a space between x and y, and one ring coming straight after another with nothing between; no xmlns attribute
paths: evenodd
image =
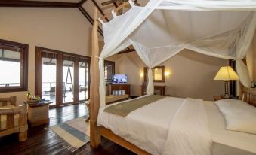
<svg viewBox="0 0 256 155"><path fill-rule="evenodd" d="M183 45L184 48L203 53L208 56L223 59L236 59L236 71L239 80L245 87L251 87L248 68L242 61L251 45L256 26L256 14L249 14L248 18L237 29L224 32L221 35L202 38Z"/></svg>

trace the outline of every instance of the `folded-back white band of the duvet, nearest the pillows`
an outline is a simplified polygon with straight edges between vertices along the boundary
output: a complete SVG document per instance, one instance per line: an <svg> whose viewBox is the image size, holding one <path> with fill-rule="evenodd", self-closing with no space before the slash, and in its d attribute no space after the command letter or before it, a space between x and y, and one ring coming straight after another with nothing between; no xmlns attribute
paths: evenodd
<svg viewBox="0 0 256 155"><path fill-rule="evenodd" d="M211 134L201 99L189 99L171 121L164 155L210 155Z"/></svg>

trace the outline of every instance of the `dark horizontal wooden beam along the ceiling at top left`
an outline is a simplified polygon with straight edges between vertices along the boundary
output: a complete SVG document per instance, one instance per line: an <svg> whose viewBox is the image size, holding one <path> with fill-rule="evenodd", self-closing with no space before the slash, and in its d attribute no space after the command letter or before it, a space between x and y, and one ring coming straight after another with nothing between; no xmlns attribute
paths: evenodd
<svg viewBox="0 0 256 155"><path fill-rule="evenodd" d="M34 7L34 8L77 8L79 3L40 2L40 1L0 1L0 7Z"/></svg>

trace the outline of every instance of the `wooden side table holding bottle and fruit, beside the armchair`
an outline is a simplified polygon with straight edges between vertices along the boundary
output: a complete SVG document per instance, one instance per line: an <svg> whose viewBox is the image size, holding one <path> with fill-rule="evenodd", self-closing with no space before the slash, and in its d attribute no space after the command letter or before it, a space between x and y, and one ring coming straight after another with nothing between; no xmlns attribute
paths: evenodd
<svg viewBox="0 0 256 155"><path fill-rule="evenodd" d="M28 120L30 126L33 127L49 123L49 105L51 103L28 104Z"/></svg>

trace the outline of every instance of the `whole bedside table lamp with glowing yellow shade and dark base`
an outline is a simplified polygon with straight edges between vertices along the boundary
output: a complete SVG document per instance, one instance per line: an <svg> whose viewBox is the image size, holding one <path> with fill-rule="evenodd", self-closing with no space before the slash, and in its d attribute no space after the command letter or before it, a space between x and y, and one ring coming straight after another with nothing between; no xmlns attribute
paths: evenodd
<svg viewBox="0 0 256 155"><path fill-rule="evenodd" d="M223 66L217 71L214 80L215 81L224 81L225 87L225 94L224 96L221 95L223 98L229 98L229 81L236 81L238 80L238 75L230 66Z"/></svg>

